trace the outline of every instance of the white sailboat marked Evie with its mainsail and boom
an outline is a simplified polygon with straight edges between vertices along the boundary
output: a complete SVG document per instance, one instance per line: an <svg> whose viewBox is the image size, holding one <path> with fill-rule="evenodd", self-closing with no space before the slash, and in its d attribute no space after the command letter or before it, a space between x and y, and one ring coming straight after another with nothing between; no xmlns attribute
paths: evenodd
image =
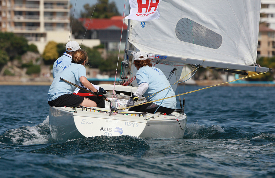
<svg viewBox="0 0 275 178"><path fill-rule="evenodd" d="M105 108L50 107L53 139L63 142L98 135L183 138L187 116L182 104L169 115L125 109L137 89L133 80L137 70L131 60L138 51L144 51L153 65L163 71L174 91L186 65L243 75L272 71L256 64L259 0L149 0L142 6L141 0L130 1L139 6L139 13L133 14L137 10L133 9L132 15L138 19L128 18L119 83L100 85L108 92L106 97L112 105L106 102ZM152 14L159 17L139 19ZM135 105L145 101L146 98L141 98Z"/></svg>

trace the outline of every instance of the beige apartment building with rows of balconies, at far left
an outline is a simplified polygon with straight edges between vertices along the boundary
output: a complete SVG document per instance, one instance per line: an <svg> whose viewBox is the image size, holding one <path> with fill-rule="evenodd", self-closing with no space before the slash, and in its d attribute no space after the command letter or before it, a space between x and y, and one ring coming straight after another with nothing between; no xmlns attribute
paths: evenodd
<svg viewBox="0 0 275 178"><path fill-rule="evenodd" d="M23 35L42 54L49 41L75 40L70 35L70 9L70 0L0 0L0 31ZM86 42L90 47L99 44Z"/></svg>

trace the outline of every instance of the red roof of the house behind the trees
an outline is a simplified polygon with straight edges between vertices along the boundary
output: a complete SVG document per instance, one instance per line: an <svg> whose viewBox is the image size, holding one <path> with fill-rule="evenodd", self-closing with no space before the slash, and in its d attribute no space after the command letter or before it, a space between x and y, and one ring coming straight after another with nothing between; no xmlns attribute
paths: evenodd
<svg viewBox="0 0 275 178"><path fill-rule="evenodd" d="M123 23L123 17L122 16L114 16L111 19L90 19L89 18L79 18L79 21L81 21L84 25L85 28L87 28L89 22L89 27L87 30L92 30L92 29L108 29L108 28L113 28L116 27L118 29L122 28L122 23ZM127 24L124 23L123 25L123 30L127 29Z"/></svg>

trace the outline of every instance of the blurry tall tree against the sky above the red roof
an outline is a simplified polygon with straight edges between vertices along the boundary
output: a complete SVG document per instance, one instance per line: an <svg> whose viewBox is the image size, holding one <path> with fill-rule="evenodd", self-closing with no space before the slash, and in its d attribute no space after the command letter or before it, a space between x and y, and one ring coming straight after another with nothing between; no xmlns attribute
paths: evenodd
<svg viewBox="0 0 275 178"><path fill-rule="evenodd" d="M80 17L90 18L93 14L92 18L111 18L112 16L120 16L116 3L110 2L109 0L99 0L96 5L90 6L89 4L85 4L84 12L81 11Z"/></svg>

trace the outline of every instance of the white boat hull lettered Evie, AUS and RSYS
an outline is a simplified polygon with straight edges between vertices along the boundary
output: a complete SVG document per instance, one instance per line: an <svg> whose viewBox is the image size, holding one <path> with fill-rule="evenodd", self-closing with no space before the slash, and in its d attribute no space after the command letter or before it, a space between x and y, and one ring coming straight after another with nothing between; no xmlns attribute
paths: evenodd
<svg viewBox="0 0 275 178"><path fill-rule="evenodd" d="M107 85L101 87L108 89ZM133 87L128 89L133 90ZM104 108L50 107L49 113L51 135L58 142L99 135L183 138L186 119L184 113L178 112L163 115L120 110L110 114L109 109Z"/></svg>

